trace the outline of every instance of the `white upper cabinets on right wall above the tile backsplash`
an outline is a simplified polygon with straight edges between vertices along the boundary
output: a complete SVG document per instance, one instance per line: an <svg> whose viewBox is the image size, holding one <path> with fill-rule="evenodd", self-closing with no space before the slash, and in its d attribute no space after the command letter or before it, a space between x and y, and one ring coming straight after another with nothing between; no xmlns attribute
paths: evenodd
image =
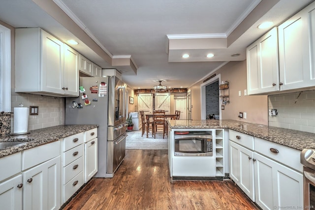
<svg viewBox="0 0 315 210"><path fill-rule="evenodd" d="M315 2L247 48L248 94L315 87ZM278 91L279 92L279 91Z"/></svg>

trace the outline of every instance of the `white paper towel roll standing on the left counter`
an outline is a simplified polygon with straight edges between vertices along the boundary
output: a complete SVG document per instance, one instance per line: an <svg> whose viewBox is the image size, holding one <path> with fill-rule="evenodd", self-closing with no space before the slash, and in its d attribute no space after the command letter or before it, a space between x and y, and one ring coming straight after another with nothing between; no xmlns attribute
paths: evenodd
<svg viewBox="0 0 315 210"><path fill-rule="evenodd" d="M14 107L13 134L24 134L29 131L29 108Z"/></svg>

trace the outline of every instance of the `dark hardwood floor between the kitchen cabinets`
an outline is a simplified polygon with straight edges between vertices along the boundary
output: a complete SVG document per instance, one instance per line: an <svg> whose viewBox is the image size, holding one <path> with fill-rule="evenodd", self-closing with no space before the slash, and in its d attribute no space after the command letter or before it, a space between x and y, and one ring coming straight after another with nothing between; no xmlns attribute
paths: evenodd
<svg viewBox="0 0 315 210"><path fill-rule="evenodd" d="M167 150L126 150L114 178L93 178L63 210L258 210L231 181L174 180Z"/></svg>

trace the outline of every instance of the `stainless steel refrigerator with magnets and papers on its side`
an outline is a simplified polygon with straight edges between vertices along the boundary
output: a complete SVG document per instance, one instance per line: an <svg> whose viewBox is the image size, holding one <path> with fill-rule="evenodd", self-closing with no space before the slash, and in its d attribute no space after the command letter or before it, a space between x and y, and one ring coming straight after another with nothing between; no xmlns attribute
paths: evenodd
<svg viewBox="0 0 315 210"><path fill-rule="evenodd" d="M65 100L65 124L98 124L98 172L111 178L125 159L126 85L117 77L80 77L80 96Z"/></svg>

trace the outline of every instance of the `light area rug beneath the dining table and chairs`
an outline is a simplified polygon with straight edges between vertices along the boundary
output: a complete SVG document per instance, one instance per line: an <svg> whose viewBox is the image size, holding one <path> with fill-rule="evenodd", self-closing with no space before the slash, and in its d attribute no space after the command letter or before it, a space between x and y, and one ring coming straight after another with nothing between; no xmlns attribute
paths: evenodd
<svg viewBox="0 0 315 210"><path fill-rule="evenodd" d="M162 134L157 134L156 139L149 133L149 138L145 133L141 137L142 131L127 131L126 149L127 150L167 150L168 137L165 135L164 139Z"/></svg>

